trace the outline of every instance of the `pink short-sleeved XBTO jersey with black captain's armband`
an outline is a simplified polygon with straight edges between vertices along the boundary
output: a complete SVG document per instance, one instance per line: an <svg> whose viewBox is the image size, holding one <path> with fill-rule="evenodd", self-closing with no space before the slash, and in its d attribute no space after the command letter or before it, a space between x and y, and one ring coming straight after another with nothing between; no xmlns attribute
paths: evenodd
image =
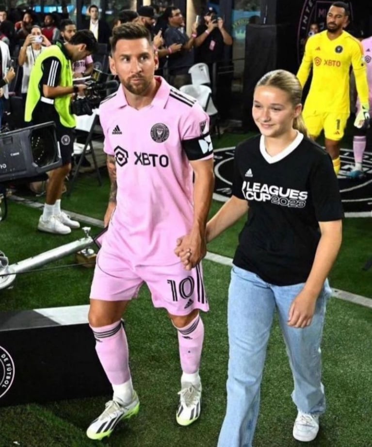
<svg viewBox="0 0 372 447"><path fill-rule="evenodd" d="M179 262L176 241L194 217L189 160L213 157L209 116L194 98L156 79L159 90L145 108L130 107L122 86L99 107L104 151L115 156L117 179L102 249L132 265Z"/></svg>

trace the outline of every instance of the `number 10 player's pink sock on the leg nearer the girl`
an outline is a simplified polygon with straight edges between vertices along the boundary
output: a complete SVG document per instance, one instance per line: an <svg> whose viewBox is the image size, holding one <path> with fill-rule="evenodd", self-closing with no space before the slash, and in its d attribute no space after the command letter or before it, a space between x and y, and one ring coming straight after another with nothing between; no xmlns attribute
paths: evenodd
<svg viewBox="0 0 372 447"><path fill-rule="evenodd" d="M204 324L198 315L190 324L177 328L181 368L187 374L199 370L204 340Z"/></svg>

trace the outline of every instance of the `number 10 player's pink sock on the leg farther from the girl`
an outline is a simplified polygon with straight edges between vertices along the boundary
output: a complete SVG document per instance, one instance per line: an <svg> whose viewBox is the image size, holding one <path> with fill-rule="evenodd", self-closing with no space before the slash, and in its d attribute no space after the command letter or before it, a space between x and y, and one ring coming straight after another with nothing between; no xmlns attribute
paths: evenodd
<svg viewBox="0 0 372 447"><path fill-rule="evenodd" d="M113 385L130 379L127 336L121 321L108 326L92 327L96 352L107 378Z"/></svg>

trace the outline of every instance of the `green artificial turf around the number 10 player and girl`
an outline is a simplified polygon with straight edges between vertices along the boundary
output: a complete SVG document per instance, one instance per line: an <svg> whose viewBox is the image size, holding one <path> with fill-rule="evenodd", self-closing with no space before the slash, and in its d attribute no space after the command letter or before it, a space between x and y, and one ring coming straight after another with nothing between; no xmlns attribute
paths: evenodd
<svg viewBox="0 0 372 447"><path fill-rule="evenodd" d="M222 136L215 146L233 146L241 139L241 135ZM64 196L63 208L102 219L109 190L108 178L104 170L102 173L101 187L93 174L81 175L71 197ZM34 200L31 194L27 197ZM213 201L210 214L220 206L221 203ZM0 250L10 262L82 237L81 231L68 236L36 231L39 215L38 210L10 202L9 216L0 222ZM242 226L243 219L213 241L209 251L232 257ZM93 228L93 234L96 231L99 230ZM371 218L345 219L342 248L330 275L333 287L372 297L372 269L362 270L372 256L370 231ZM18 275L13 288L0 290L0 311L88 304L93 271L68 266L73 262L71 255L48 265L57 266L56 270ZM175 421L180 378L177 334L165 311L152 307L144 287L125 316L133 383L141 401L139 415L119 424L109 440L99 443L89 441L85 430L102 412L110 396L0 408L0 447L216 446L226 405L226 304L230 269L210 261L203 265L210 312L203 315L203 404L196 423L184 428ZM314 442L307 444L309 447L372 446L371 339L371 309L334 298L329 301L323 339L323 382L328 407L321 418L320 433ZM262 383L255 447L304 445L291 435L296 416L291 390L291 371L275 321Z"/></svg>

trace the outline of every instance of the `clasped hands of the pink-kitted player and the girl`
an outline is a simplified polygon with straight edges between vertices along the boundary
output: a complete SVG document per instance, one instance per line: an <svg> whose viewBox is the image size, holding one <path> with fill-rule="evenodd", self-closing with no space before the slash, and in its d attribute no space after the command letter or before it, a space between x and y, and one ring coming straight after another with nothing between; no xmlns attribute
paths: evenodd
<svg viewBox="0 0 372 447"><path fill-rule="evenodd" d="M176 255L180 258L185 270L194 268L206 255L207 246L205 236L193 230L177 239Z"/></svg>

